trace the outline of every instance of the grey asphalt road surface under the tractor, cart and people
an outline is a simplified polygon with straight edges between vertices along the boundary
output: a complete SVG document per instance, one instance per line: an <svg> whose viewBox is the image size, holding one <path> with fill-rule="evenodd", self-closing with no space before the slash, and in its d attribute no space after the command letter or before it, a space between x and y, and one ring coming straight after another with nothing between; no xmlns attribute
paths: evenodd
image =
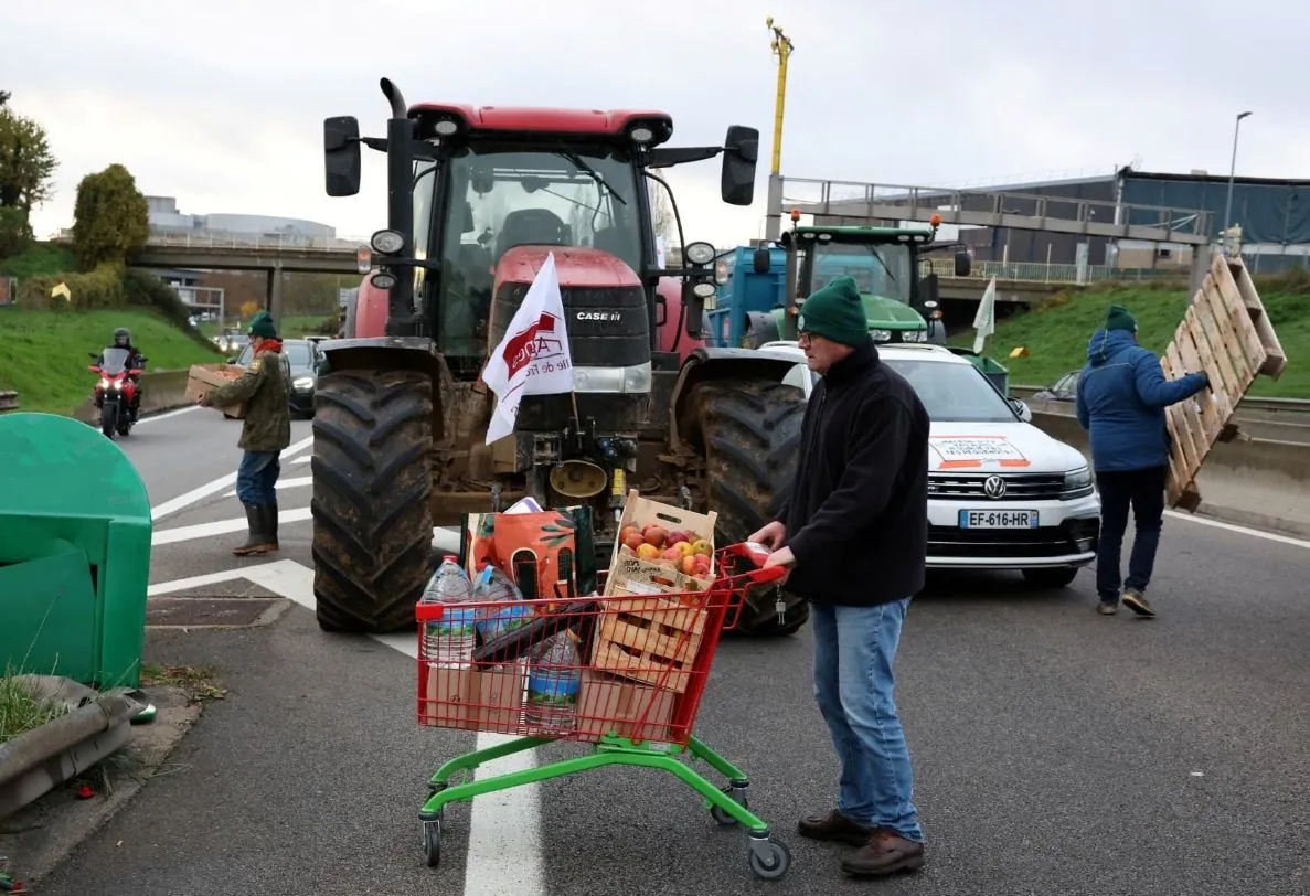
<svg viewBox="0 0 1310 896"><path fill-rule="evenodd" d="M236 431L196 410L151 420L123 449L151 503L176 507L234 469ZM308 435L295 424L293 440ZM284 513L308 506L293 485L307 476L284 461ZM310 565L309 523L283 525L278 566L236 559L225 549L241 532L203 534L240 515L231 486L210 487L157 520L152 582L245 567L263 584L202 579L177 593L280 588L308 603L295 565ZM169 541L183 527L195 537ZM914 601L897 664L929 863L872 884L841 876L838 848L794 833L831 804L837 769L807 630L724 643L698 722L791 848L773 884L751 876L744 834L717 828L689 790L622 768L453 807L443 866L423 867L426 778L474 736L414 723L414 663L397 650L413 639L326 635L301 605L265 627L152 630L148 662L212 665L229 696L41 892L1305 896L1307 569L1307 544L1170 517L1153 621L1096 616L1090 572L1047 593L1007 576L937 582Z"/></svg>

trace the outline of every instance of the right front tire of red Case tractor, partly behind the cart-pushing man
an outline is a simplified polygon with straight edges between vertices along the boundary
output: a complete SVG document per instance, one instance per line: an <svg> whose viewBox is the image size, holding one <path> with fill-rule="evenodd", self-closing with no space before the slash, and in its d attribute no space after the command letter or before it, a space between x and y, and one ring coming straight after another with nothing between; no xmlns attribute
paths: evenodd
<svg viewBox="0 0 1310 896"><path fill-rule="evenodd" d="M768 523L791 494L806 400L781 383L722 380L696 388L710 508L718 511L715 542L745 541ZM757 588L747 595L738 631L751 637L787 635L810 618L810 605L782 589L783 621L777 592Z"/></svg>

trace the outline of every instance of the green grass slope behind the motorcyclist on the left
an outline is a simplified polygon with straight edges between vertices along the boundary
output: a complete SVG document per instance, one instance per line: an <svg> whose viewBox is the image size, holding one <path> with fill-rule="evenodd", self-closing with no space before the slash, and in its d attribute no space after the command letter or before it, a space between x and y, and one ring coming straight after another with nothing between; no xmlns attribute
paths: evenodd
<svg viewBox="0 0 1310 896"><path fill-rule="evenodd" d="M126 326L145 355L147 371L183 369L223 360L162 316L144 308L46 312L0 308L0 390L18 393L20 410L71 414L92 394L88 352L110 345Z"/></svg>

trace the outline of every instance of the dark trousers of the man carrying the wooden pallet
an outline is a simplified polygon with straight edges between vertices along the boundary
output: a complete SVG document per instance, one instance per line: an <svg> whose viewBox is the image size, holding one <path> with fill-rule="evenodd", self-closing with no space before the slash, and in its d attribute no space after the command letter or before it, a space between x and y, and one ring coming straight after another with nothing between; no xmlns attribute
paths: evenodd
<svg viewBox="0 0 1310 896"><path fill-rule="evenodd" d="M1108 604L1119 603L1119 557L1128 531L1128 508L1133 511L1133 550L1128 557L1124 587L1146 592L1155 569L1159 531L1165 516L1165 481L1169 468L1115 470L1096 474L1100 491L1100 540L1096 544L1096 595Z"/></svg>

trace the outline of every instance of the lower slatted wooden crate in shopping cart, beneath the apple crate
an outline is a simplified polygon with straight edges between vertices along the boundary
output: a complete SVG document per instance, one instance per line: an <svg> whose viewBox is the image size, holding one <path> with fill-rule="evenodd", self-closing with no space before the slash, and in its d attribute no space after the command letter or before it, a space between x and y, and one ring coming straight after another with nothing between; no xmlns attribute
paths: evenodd
<svg viewBox="0 0 1310 896"><path fill-rule="evenodd" d="M683 693L692 682L707 616L672 595L607 601L591 668Z"/></svg>

